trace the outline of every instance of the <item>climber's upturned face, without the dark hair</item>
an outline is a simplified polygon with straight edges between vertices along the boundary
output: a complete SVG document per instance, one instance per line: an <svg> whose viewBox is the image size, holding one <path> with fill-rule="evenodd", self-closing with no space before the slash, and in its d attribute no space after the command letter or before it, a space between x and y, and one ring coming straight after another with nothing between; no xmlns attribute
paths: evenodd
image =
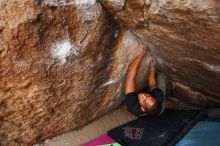
<svg viewBox="0 0 220 146"><path fill-rule="evenodd" d="M139 93L138 101L143 112L150 110L157 103L157 101L147 93Z"/></svg>

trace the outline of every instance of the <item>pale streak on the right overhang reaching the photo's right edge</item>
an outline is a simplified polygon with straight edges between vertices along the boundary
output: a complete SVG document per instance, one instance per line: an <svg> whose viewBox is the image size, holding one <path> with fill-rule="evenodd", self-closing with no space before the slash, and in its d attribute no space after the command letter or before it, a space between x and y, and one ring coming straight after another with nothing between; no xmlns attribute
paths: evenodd
<svg viewBox="0 0 220 146"><path fill-rule="evenodd" d="M188 57L183 58L183 60L197 62L197 63L201 64L207 70L210 70L210 71L213 71L213 72L217 72L217 73L220 72L220 66L217 66L217 65L214 66L214 65L202 62L202 61L200 61L198 59L193 59L193 58L188 58Z"/></svg>

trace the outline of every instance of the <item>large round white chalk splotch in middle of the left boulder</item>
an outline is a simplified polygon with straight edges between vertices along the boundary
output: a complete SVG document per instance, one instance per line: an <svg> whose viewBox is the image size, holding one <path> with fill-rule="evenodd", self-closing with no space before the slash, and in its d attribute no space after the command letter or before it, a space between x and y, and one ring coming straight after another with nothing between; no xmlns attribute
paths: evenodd
<svg viewBox="0 0 220 146"><path fill-rule="evenodd" d="M66 63L67 58L72 54L78 55L76 47L73 47L68 39L54 43L51 51L53 57L60 60L61 65Z"/></svg>

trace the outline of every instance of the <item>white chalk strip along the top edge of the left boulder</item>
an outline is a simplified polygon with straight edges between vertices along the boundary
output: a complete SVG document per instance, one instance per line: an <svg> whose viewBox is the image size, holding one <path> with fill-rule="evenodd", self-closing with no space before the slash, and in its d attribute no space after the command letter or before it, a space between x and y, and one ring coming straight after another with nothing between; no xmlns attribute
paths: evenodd
<svg viewBox="0 0 220 146"><path fill-rule="evenodd" d="M43 0L43 5L68 6L68 5L94 5L96 0Z"/></svg>

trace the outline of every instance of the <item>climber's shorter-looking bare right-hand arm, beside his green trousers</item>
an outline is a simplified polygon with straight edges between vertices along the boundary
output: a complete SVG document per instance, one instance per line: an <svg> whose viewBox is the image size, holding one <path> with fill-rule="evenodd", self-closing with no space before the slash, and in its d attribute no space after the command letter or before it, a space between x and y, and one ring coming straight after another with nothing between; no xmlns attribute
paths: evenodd
<svg viewBox="0 0 220 146"><path fill-rule="evenodd" d="M149 76L148 76L148 86L151 90L157 87L157 83L155 80L155 67L154 61L152 60L149 65Z"/></svg>

